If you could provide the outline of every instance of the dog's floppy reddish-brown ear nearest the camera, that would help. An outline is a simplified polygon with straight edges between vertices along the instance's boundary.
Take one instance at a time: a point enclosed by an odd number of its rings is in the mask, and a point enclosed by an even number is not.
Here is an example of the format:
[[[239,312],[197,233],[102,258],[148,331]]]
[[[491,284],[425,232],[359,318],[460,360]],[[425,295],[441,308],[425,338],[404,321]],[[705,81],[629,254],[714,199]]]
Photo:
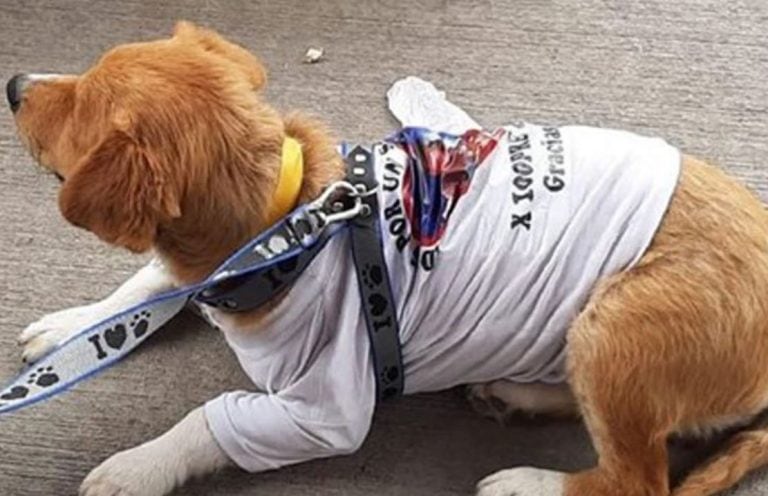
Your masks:
[[[59,194],[72,224],[101,239],[143,252],[158,225],[181,215],[168,164],[124,131],[112,131],[80,162]]]

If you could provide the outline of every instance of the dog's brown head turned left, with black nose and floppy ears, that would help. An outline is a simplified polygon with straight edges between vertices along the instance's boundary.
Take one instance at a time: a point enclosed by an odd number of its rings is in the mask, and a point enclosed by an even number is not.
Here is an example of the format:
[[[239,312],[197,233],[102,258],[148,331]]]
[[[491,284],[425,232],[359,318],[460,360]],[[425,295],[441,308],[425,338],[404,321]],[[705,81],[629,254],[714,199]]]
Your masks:
[[[253,163],[244,154],[279,152],[282,122],[258,96],[265,81],[246,50],[180,22],[171,38],[116,47],[81,75],[15,76],[7,93],[22,140],[62,181],[64,217],[144,251],[163,226],[214,208],[202,195],[252,186],[227,169]]]

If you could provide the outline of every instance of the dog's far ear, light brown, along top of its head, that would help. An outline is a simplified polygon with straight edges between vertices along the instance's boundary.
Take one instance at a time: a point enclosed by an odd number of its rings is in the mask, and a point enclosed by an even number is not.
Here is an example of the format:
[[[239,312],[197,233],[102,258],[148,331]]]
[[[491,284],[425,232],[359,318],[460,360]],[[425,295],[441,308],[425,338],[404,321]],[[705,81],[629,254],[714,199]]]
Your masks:
[[[201,28],[189,21],[179,21],[173,30],[175,38],[192,41],[204,50],[221,55],[245,71],[254,89],[267,84],[267,71],[261,61],[245,48],[225,40],[210,29]]]

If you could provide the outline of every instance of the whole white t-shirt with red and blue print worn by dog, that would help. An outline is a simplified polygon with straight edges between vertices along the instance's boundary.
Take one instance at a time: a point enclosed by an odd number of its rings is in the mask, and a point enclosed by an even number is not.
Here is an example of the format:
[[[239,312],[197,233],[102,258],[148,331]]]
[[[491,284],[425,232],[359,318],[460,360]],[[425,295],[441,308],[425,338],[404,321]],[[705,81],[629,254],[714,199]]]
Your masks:
[[[679,152],[588,127],[455,138],[406,129],[376,146],[384,252],[406,393],[565,379],[566,331],[602,277],[636,263],[675,189]],[[354,451],[376,382],[349,239],[335,237],[258,329],[224,329],[257,392],[206,405],[249,471]]]

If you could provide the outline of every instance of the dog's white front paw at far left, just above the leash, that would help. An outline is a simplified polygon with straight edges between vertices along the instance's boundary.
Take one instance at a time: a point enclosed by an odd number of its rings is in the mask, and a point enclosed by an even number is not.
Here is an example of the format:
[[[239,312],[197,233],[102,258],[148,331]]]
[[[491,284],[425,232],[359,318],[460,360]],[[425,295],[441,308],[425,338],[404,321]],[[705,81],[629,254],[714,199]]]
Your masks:
[[[44,316],[21,331],[19,345],[24,347],[22,360],[27,363],[36,361],[59,343],[102,318],[104,316],[99,313],[96,304],[68,308]]]

